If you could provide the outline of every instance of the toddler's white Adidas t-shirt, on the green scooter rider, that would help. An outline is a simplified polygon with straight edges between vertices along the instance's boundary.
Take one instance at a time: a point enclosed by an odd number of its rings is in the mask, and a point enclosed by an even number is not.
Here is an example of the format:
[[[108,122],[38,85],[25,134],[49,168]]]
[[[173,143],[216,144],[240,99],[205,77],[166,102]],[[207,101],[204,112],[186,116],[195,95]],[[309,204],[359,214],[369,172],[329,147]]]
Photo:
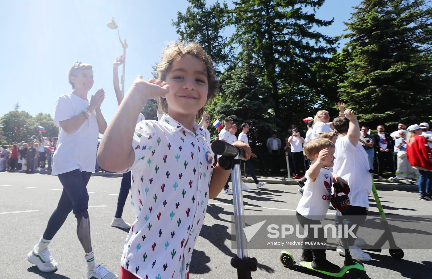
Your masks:
[[[315,182],[309,179],[309,170],[305,174],[303,196],[297,205],[297,212],[312,220],[324,220],[330,205],[333,174],[327,168],[321,168]]]

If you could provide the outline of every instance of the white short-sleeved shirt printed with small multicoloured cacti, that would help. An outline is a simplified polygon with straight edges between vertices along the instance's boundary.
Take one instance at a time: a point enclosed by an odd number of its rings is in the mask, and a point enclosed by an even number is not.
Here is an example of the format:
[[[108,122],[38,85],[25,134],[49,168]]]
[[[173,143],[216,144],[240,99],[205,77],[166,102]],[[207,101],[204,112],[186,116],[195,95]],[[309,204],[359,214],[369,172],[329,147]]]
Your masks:
[[[214,154],[205,130],[168,114],[137,124],[131,205],[137,219],[121,266],[141,279],[184,279],[206,214]]]

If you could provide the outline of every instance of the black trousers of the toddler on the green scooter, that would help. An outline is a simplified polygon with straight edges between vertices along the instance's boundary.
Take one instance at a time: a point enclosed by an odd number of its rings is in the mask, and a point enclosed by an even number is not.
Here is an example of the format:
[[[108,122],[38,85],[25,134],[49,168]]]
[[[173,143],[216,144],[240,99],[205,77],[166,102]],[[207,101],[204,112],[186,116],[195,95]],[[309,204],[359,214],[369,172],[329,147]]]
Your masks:
[[[300,225],[303,229],[305,226],[308,227],[308,235],[303,239],[303,250],[312,250],[312,255],[314,260],[324,260],[325,259],[325,244],[327,242],[327,238],[324,237],[324,229],[321,228],[311,228],[310,225],[321,225],[321,221],[308,219],[302,216],[299,212],[295,212],[295,216],[299,221]],[[317,238],[314,238],[314,230],[317,230]],[[305,244],[308,241],[321,242],[321,244],[309,245]]]

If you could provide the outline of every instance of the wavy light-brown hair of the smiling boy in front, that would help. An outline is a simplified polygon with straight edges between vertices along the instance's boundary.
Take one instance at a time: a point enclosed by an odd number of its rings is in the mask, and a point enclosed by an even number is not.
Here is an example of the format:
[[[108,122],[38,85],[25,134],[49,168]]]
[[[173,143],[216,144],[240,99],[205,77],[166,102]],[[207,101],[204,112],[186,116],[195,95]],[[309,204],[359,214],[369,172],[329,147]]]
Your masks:
[[[206,66],[207,80],[209,84],[209,91],[207,92],[207,101],[216,95],[219,88],[219,81],[216,79],[215,67],[212,58],[206,54],[206,51],[201,47],[200,44],[191,43],[186,41],[173,41],[165,48],[161,55],[161,61],[157,65],[156,69],[159,72],[159,79],[161,81],[166,80],[166,76],[171,70],[172,61],[181,58],[185,55],[193,55],[198,59],[202,60]],[[166,98],[159,97],[158,104],[162,110],[168,112],[168,104]],[[196,119],[200,119],[203,116],[204,108],[200,108],[197,112]]]

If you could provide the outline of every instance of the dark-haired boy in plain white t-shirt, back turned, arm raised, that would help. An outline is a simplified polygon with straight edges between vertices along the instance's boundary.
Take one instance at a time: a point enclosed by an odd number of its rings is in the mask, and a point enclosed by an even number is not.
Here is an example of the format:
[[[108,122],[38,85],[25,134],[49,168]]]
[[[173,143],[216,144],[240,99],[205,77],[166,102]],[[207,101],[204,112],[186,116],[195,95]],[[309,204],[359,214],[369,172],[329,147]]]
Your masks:
[[[368,156],[360,144],[359,121],[352,109],[345,111],[345,116],[336,117],[333,120],[335,129],[339,132],[336,140],[336,152],[334,156],[333,173],[348,181],[349,201],[351,206],[343,213],[345,221],[349,224],[356,224],[352,230],[357,233],[359,225],[365,222],[369,207],[369,194],[372,191],[372,177],[369,173]],[[338,218],[335,219],[338,225]],[[345,255],[343,243],[337,240],[337,253]],[[348,235],[348,247],[351,256],[361,261],[371,260],[371,257],[364,253],[357,245],[365,245],[362,238],[354,238]]]

